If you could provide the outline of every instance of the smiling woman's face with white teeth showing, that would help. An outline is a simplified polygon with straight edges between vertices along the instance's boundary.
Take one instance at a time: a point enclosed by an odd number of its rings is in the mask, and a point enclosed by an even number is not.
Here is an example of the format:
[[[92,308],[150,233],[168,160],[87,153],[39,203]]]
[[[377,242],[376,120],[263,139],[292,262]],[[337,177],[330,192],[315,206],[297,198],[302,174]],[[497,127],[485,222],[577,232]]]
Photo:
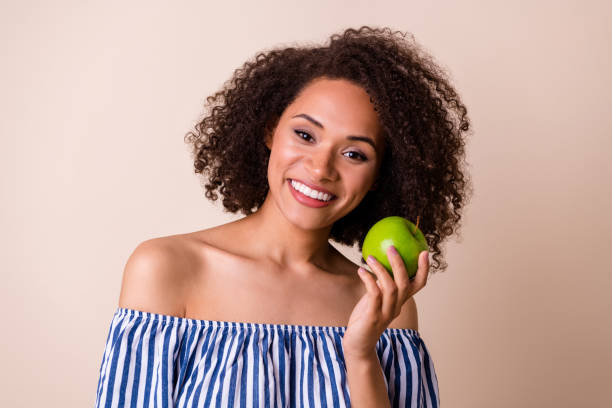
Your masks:
[[[305,87],[266,139],[269,194],[281,213],[318,229],[351,212],[376,181],[384,150],[379,133],[363,88],[341,79]]]

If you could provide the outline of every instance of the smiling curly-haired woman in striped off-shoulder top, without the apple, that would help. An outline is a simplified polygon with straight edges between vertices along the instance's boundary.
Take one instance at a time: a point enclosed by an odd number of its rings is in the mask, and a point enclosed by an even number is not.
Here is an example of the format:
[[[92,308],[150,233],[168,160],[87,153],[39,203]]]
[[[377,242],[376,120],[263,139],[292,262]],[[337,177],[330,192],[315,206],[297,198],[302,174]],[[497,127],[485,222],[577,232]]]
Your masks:
[[[466,109],[405,35],[362,27],[260,53],[186,136],[206,196],[245,217],[147,240],[127,261],[96,406],[437,407],[409,279],[359,249],[416,220],[434,269],[461,216]],[[399,33],[401,34],[401,33]],[[452,205],[451,205],[452,204]]]

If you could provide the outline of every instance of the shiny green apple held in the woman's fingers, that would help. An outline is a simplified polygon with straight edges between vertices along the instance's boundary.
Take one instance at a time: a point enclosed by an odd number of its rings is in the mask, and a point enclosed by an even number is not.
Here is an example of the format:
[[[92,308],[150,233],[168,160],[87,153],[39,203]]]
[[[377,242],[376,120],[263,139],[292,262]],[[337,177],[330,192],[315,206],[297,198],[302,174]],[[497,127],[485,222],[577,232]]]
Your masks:
[[[418,225],[418,220],[417,220]],[[362,256],[372,255],[393,276],[391,263],[387,259],[387,248],[393,245],[401,255],[410,278],[416,275],[419,254],[429,251],[427,240],[421,230],[403,217],[385,217],[370,228],[363,240]]]

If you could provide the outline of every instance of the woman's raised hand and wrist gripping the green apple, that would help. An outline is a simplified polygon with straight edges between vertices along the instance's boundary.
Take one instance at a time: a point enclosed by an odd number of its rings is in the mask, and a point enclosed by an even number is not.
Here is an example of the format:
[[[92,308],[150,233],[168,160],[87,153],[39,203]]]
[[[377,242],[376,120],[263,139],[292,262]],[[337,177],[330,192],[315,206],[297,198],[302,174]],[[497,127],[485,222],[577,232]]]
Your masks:
[[[364,268],[358,270],[367,292],[355,305],[344,332],[342,346],[345,355],[357,358],[371,356],[380,336],[393,319],[399,316],[404,303],[427,283],[428,251],[421,251],[419,254],[417,273],[412,279],[408,278],[404,261],[393,246],[387,249],[387,257],[393,277],[372,256],[366,262],[378,280]]]

